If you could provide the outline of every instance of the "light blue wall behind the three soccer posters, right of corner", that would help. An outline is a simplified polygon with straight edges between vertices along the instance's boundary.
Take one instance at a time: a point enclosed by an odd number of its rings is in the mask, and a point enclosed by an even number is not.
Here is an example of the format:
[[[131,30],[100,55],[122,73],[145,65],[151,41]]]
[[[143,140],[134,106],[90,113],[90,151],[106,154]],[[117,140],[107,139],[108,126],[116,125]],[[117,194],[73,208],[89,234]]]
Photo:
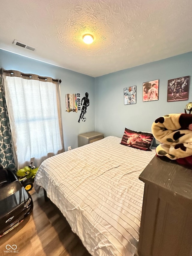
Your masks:
[[[192,52],[95,78],[95,131],[122,137],[125,127],[151,131],[156,118],[184,113],[192,101],[192,81],[187,101],[167,102],[167,81],[192,75]],[[159,100],[143,102],[143,83],[159,79]],[[137,103],[124,105],[124,88],[137,86]]]

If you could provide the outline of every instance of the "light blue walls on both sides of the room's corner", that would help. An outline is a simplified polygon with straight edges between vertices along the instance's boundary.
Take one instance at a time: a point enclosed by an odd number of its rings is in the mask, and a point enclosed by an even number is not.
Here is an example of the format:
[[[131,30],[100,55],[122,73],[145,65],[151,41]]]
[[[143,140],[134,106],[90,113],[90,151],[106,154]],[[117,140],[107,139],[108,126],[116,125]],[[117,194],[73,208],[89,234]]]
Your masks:
[[[60,90],[65,150],[68,146],[76,148],[78,134],[88,131],[102,132],[105,137],[122,137],[125,127],[151,131],[156,118],[168,113],[183,113],[185,105],[192,101],[190,82],[187,101],[167,102],[167,81],[192,75],[192,52],[97,78],[3,50],[0,50],[0,67],[62,80]],[[159,79],[159,100],[143,102],[143,83],[156,79]],[[134,85],[137,86],[137,103],[124,105],[124,88]],[[65,94],[80,93],[82,98],[86,91],[90,99],[87,119],[78,123],[80,111],[65,112]]]

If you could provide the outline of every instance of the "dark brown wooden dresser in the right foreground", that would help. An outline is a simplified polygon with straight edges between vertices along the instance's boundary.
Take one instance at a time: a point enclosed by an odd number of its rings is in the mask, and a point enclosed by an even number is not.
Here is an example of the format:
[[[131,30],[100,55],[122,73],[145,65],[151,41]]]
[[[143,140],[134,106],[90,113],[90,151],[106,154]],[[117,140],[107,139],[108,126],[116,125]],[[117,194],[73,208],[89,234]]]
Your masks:
[[[139,179],[139,256],[192,256],[192,170],[155,156]]]

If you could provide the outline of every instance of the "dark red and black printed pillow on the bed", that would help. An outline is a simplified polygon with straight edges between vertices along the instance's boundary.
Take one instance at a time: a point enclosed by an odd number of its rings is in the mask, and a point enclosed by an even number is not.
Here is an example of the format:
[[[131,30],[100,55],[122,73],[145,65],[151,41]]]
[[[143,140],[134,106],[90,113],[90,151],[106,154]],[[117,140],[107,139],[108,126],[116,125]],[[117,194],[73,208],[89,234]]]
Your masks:
[[[141,149],[145,151],[152,151],[151,146],[153,143],[153,134],[142,131],[131,131],[125,128],[121,143],[122,145]]]

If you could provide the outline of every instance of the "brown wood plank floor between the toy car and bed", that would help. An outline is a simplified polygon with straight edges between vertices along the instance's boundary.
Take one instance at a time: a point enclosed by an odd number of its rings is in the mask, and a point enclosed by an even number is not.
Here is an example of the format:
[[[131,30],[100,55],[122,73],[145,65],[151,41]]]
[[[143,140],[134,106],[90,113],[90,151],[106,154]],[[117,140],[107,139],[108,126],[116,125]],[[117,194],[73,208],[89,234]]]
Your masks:
[[[0,255],[91,256],[59,209],[50,200],[45,202],[43,189],[39,194],[32,189],[30,194],[32,215],[0,238]],[[7,244],[16,245],[19,252],[4,252]]]

